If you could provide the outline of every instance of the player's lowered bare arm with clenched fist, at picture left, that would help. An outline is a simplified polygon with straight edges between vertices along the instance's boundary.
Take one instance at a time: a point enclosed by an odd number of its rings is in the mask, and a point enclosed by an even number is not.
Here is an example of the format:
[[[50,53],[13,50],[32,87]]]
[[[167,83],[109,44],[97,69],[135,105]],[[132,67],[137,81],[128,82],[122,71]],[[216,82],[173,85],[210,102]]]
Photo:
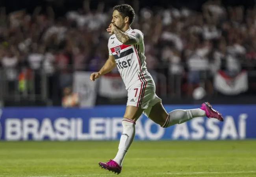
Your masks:
[[[109,55],[108,60],[99,70],[99,72],[94,72],[93,74],[91,74],[91,77],[90,77],[91,81],[95,81],[95,79],[110,72],[115,68],[116,65],[117,64],[115,63],[115,57],[113,55]]]

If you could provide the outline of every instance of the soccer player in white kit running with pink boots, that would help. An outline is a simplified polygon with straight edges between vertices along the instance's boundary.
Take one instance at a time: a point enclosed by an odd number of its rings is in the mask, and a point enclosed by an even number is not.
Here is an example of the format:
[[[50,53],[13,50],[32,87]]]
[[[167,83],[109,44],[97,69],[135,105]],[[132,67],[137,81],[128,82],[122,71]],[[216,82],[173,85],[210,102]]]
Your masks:
[[[130,28],[134,17],[134,9],[128,4],[113,8],[113,19],[107,29],[111,34],[108,41],[109,58],[99,72],[90,76],[95,81],[117,66],[128,91],[117,155],[106,163],[99,162],[100,167],[117,174],[121,173],[124,156],[134,140],[135,122],[142,113],[163,128],[203,116],[223,121],[223,116],[212,109],[209,103],[202,103],[198,109],[178,109],[169,113],[164,109],[161,99],[155,93],[152,76],[147,71],[143,33]]]

